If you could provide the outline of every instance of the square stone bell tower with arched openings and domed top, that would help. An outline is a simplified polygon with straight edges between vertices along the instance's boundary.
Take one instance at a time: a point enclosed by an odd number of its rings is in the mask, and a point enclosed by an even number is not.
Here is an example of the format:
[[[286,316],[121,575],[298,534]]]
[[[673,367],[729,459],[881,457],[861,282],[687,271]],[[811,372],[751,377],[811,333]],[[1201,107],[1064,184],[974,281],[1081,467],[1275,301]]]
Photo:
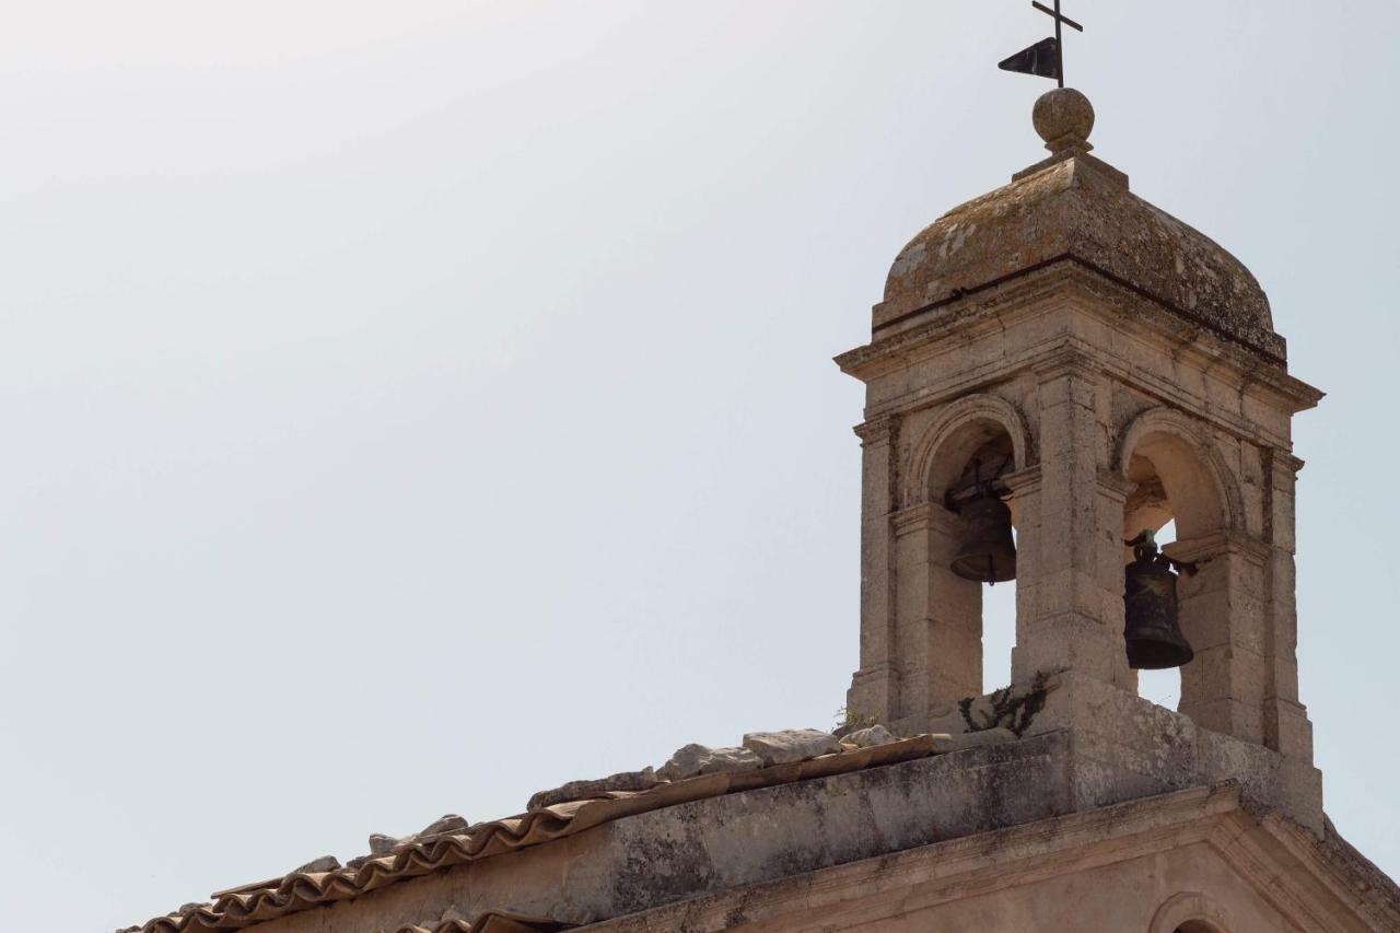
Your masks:
[[[837,357],[867,388],[847,707],[956,728],[1001,686],[981,682],[983,580],[1014,573],[1012,689],[1047,691],[1028,731],[1074,733],[1086,804],[1236,779],[1320,829],[1291,419],[1322,394],[1289,375],[1254,276],[1092,156],[1093,120],[1078,91],[1042,97],[1049,157],[914,237],[871,342]],[[1189,650],[1134,657],[1190,657],[1176,710],[1137,696],[1124,637],[1127,542],[1141,556],[1168,523],[1158,586]]]

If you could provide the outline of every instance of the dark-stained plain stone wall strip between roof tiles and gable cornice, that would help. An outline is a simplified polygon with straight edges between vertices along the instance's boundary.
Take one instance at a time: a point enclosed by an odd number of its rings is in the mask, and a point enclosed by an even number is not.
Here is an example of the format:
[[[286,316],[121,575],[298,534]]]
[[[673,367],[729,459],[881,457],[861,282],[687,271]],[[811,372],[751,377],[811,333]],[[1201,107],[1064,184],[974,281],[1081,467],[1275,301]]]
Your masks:
[[[381,933],[447,908],[476,918],[503,905],[573,923],[620,918],[1070,813],[1067,751],[1065,737],[1043,735],[707,797],[259,926],[266,933]]]

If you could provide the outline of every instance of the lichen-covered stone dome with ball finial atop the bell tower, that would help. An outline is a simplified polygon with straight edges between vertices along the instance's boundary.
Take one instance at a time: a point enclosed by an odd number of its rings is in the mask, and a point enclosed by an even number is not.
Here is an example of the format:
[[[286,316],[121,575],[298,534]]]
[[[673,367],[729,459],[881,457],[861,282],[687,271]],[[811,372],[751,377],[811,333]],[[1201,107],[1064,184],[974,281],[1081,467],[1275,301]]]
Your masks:
[[[1093,111],[1082,94],[1051,91],[1037,102],[1035,120],[1053,156],[914,237],[889,270],[876,331],[966,291],[1068,261],[1282,357],[1268,298],[1249,269],[1210,237],[1133,195],[1126,175],[1088,154]]]

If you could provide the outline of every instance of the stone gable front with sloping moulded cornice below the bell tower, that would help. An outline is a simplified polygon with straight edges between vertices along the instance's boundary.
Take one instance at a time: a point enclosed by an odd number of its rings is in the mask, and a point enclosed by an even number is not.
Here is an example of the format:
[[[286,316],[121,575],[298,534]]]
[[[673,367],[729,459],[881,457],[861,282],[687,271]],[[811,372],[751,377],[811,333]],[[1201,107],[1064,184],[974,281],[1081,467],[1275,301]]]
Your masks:
[[[1331,885],[1316,884],[1327,876]],[[1284,878],[1287,899],[1270,891]],[[1235,789],[1201,787],[717,890],[589,930],[1378,933],[1400,929],[1394,891],[1373,869],[1259,821]]]

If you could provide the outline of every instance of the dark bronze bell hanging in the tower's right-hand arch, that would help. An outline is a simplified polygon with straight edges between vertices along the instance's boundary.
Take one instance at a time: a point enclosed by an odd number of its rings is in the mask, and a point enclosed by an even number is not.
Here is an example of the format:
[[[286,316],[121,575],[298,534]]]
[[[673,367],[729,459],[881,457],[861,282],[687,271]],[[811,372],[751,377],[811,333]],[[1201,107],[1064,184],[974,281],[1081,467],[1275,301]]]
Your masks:
[[[1134,558],[1124,573],[1123,591],[1128,667],[1156,671],[1189,664],[1196,653],[1177,625],[1172,559],[1156,552],[1149,532],[1128,544]]]

